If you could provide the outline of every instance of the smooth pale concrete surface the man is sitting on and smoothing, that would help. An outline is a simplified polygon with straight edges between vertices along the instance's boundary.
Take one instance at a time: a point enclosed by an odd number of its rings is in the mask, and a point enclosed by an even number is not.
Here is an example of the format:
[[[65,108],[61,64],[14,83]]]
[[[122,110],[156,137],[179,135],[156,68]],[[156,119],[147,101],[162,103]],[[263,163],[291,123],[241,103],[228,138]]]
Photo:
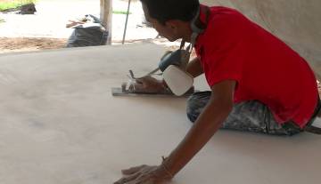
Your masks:
[[[128,69],[144,74],[153,44],[0,55],[0,183],[111,184],[160,164],[191,127],[185,99],[114,98]],[[177,184],[319,184],[321,136],[219,131]]]

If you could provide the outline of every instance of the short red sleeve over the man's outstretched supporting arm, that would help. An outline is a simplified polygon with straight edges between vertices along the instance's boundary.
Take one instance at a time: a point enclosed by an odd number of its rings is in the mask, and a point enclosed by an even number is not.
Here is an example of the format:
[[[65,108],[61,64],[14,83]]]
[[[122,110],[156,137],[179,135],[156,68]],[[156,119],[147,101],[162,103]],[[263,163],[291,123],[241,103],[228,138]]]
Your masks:
[[[242,20],[238,14],[224,14],[210,21],[204,35],[206,42],[201,57],[210,86],[224,80],[240,83],[245,53],[243,48],[246,48]]]

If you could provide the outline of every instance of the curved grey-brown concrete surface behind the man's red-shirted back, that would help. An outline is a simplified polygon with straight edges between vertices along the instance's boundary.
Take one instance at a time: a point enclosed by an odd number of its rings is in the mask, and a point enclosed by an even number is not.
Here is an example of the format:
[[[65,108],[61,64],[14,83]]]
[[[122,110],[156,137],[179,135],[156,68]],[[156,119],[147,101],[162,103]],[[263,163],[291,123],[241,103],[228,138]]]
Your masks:
[[[201,0],[238,9],[300,52],[321,75],[320,0]]]

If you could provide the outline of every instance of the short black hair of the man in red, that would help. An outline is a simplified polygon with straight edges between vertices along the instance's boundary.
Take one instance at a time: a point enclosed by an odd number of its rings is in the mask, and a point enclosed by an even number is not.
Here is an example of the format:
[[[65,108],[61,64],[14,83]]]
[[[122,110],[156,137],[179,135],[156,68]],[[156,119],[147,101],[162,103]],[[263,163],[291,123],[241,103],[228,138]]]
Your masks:
[[[165,24],[168,20],[193,20],[199,0],[140,0],[147,8],[149,16]]]

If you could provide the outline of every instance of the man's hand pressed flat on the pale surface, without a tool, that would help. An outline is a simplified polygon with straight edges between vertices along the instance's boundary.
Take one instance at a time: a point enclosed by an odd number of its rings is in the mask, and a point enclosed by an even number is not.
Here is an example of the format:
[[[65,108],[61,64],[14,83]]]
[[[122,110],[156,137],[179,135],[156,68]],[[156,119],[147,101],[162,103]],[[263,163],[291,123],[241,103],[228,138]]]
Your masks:
[[[121,172],[124,177],[114,184],[165,184],[171,180],[161,166],[141,165]]]

